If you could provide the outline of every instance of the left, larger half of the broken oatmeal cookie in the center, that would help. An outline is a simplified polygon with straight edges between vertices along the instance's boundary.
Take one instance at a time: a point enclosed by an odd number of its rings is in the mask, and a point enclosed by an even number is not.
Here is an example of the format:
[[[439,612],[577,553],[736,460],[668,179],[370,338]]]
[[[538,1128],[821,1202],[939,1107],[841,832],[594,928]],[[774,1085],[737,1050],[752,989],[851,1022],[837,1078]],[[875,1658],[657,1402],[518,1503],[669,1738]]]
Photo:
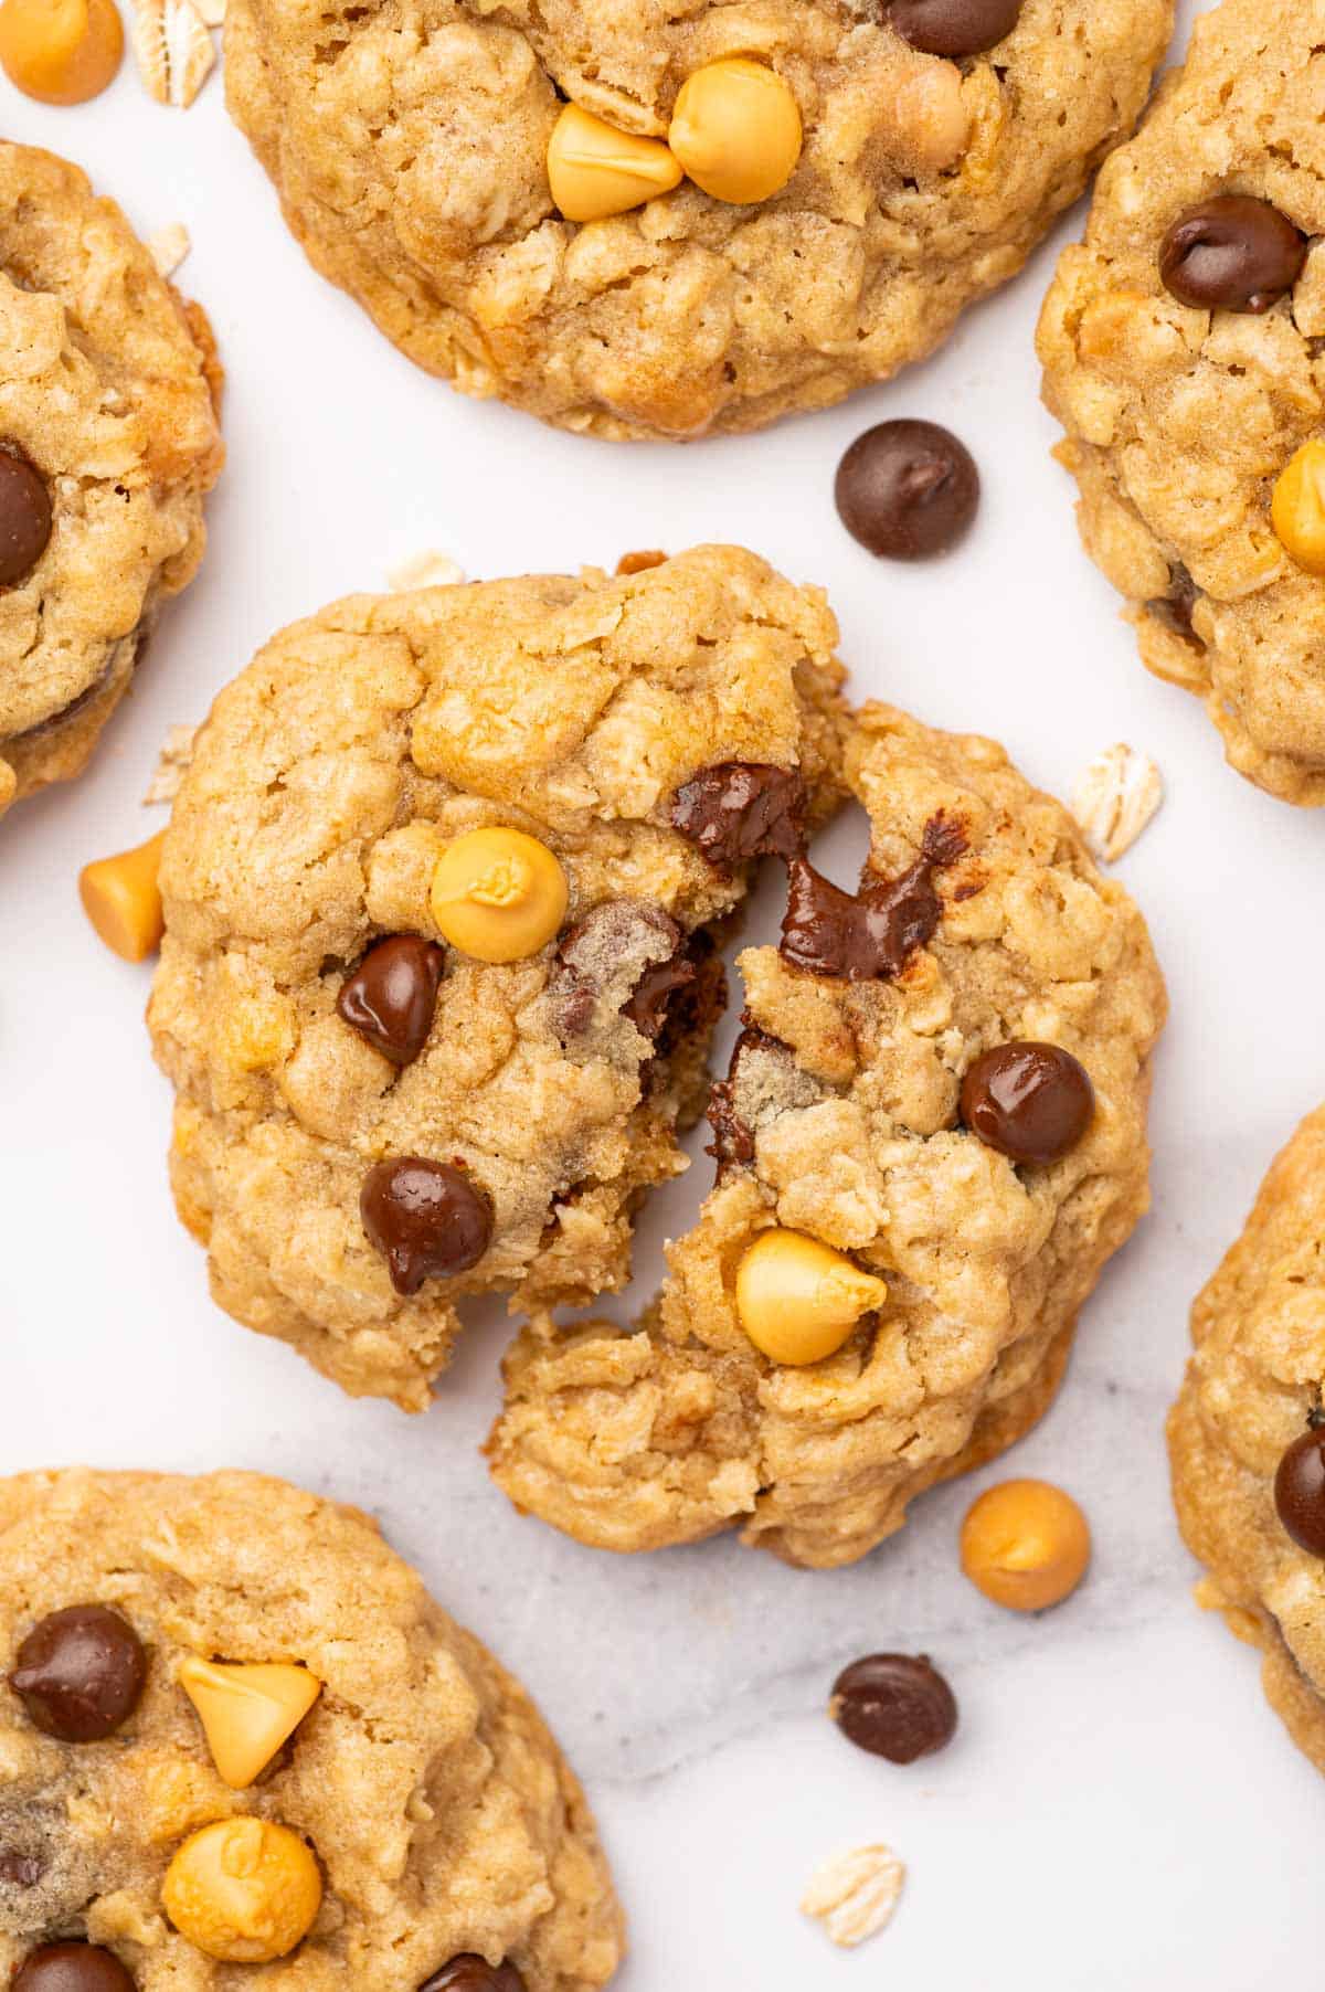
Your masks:
[[[835,641],[819,592],[699,548],[357,596],[221,693],[149,1006],[221,1307],[418,1410],[460,1295],[626,1279],[703,1106],[715,932],[835,799]]]

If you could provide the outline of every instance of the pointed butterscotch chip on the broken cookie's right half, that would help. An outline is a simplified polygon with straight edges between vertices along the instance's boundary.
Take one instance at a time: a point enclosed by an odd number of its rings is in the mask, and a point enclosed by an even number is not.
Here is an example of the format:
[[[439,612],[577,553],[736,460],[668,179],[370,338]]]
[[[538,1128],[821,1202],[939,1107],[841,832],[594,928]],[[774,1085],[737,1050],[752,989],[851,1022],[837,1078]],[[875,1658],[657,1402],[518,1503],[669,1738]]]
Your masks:
[[[861,1315],[881,1307],[887,1283],[803,1231],[761,1231],[735,1275],[741,1327],[773,1363],[821,1363]]]

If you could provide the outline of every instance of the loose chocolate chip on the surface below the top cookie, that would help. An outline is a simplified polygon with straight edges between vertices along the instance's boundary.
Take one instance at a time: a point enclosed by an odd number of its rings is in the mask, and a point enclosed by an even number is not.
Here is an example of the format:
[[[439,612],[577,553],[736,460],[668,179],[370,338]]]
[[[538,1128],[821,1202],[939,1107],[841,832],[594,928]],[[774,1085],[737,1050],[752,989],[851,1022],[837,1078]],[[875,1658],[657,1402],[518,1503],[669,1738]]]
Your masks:
[[[950,552],[980,502],[980,472],[938,422],[879,422],[837,466],[837,512],[853,540],[889,560]]]

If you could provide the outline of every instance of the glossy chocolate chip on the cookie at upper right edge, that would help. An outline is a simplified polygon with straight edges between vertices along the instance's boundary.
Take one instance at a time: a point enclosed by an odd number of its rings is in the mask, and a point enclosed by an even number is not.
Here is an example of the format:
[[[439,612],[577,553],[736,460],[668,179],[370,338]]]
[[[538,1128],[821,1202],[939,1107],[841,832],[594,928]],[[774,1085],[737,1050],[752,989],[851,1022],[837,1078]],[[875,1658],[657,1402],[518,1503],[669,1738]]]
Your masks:
[[[1160,277],[1197,311],[1269,311],[1291,291],[1307,237],[1269,201],[1215,193],[1180,215],[1160,243]]]

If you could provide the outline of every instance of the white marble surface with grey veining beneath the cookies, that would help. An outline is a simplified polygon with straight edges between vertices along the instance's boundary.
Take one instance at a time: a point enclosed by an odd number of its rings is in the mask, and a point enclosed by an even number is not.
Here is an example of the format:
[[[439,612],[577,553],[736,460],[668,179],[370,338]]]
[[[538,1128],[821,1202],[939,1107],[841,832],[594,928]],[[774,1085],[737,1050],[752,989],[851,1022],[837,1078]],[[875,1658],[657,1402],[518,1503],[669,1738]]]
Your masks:
[[[1319,1785],[1265,1711],[1253,1657],[1190,1602],[1162,1416],[1195,1287],[1325,1092],[1321,823],[1225,771],[1199,707],[1140,669],[1078,550],[1030,351],[1050,251],[934,363],[843,410],[687,450],[608,448],[470,404],[398,359],[305,267],[217,82],[177,114],[130,68],[78,112],[0,80],[0,129],[78,157],[143,231],[189,225],[181,281],[229,369],[231,450],[203,576],[96,767],[0,831],[4,1468],[247,1464],[373,1508],[534,1685],[586,1775],[634,1920],[626,1992],[1255,1992],[1315,1954]],[[841,450],[885,414],[946,420],[980,460],[978,530],[944,566],[879,566],[833,514]],[[281,622],[381,586],[422,546],[478,578],[703,538],[827,584],[859,693],[996,733],[1058,793],[1118,739],[1168,781],[1122,865],[1174,994],[1156,1211],[1010,1462],[1070,1486],[1096,1528],[1090,1582],[1038,1621],[998,1614],[956,1572],[972,1484],[831,1576],[729,1542],[618,1562],[520,1522],[474,1450],[496,1311],[428,1416],[351,1404],[209,1305],[169,1209],[147,972],[108,956],[76,900],[82,863],[157,825],[139,797],[165,729],[199,717]],[[835,835],[841,857],[853,833]],[[652,1209],[642,1287],[705,1181],[699,1161]],[[934,1653],[962,1703],[956,1745],[905,1773],[821,1713],[835,1667],[881,1645]],[[893,1928],[847,1958],[795,1902],[821,1855],[871,1839],[903,1853],[911,1884]]]

